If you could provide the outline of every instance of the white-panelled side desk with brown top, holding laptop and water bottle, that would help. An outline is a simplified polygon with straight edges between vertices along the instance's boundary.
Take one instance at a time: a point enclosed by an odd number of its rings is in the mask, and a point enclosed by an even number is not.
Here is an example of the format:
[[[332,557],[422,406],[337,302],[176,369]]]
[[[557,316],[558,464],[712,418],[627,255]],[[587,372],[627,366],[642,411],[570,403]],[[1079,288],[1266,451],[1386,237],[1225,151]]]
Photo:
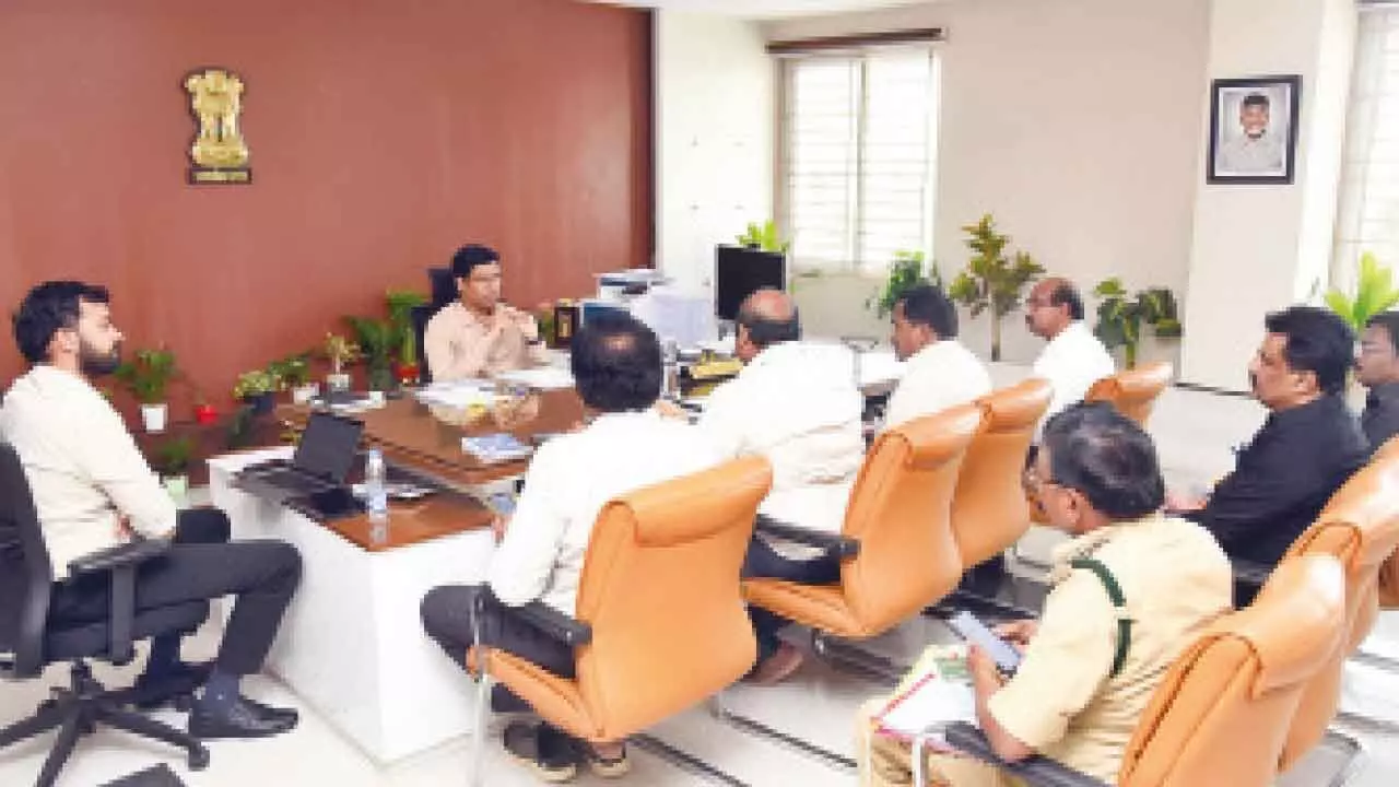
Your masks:
[[[362,515],[320,524],[234,486],[243,466],[290,455],[285,447],[208,461],[210,494],[234,538],[285,541],[302,556],[267,669],[379,763],[470,732],[470,682],[422,633],[418,605],[432,587],[485,578],[490,513],[448,494],[395,504],[389,542],[372,545]]]

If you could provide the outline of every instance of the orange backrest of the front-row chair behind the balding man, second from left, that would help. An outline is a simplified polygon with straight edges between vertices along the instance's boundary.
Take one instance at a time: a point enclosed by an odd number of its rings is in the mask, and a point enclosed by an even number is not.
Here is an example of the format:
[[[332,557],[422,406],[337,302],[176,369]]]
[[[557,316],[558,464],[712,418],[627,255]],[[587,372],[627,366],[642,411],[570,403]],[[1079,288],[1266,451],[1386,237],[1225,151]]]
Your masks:
[[[841,563],[841,585],[866,636],[939,601],[961,580],[951,501],[981,409],[961,405],[879,436],[851,490],[845,535],[859,555]]]

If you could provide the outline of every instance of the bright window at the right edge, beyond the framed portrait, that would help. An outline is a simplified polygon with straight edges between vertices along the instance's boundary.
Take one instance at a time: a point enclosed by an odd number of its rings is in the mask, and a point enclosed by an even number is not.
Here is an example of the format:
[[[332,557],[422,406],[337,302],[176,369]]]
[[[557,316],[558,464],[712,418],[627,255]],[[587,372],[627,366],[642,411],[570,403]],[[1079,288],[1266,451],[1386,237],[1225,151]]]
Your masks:
[[[1363,252],[1399,267],[1399,8],[1364,8],[1351,80],[1332,272],[1343,290]]]

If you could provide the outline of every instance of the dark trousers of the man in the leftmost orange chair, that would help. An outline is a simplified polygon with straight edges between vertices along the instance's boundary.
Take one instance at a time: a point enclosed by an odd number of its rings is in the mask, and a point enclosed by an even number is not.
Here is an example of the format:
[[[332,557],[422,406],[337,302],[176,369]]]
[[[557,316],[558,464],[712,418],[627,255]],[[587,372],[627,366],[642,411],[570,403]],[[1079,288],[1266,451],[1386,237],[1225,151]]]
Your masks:
[[[537,664],[560,678],[574,678],[572,646],[564,644],[525,620],[506,615],[506,609],[487,585],[442,585],[422,598],[422,629],[448,657],[466,668],[466,653],[474,641],[471,611],[480,605],[483,646],[504,650]],[[497,711],[522,711],[529,704],[505,686],[491,689],[491,707]]]

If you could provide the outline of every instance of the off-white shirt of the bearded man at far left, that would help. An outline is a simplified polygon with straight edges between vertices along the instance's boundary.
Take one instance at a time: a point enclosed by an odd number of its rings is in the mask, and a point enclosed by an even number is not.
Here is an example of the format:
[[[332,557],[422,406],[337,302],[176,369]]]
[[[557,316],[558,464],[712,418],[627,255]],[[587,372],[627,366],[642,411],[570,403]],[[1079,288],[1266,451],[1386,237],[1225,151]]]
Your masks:
[[[123,520],[151,538],[175,529],[175,501],[81,375],[39,364],[15,379],[0,405],[0,440],[24,464],[56,580],[70,560],[125,542]]]

